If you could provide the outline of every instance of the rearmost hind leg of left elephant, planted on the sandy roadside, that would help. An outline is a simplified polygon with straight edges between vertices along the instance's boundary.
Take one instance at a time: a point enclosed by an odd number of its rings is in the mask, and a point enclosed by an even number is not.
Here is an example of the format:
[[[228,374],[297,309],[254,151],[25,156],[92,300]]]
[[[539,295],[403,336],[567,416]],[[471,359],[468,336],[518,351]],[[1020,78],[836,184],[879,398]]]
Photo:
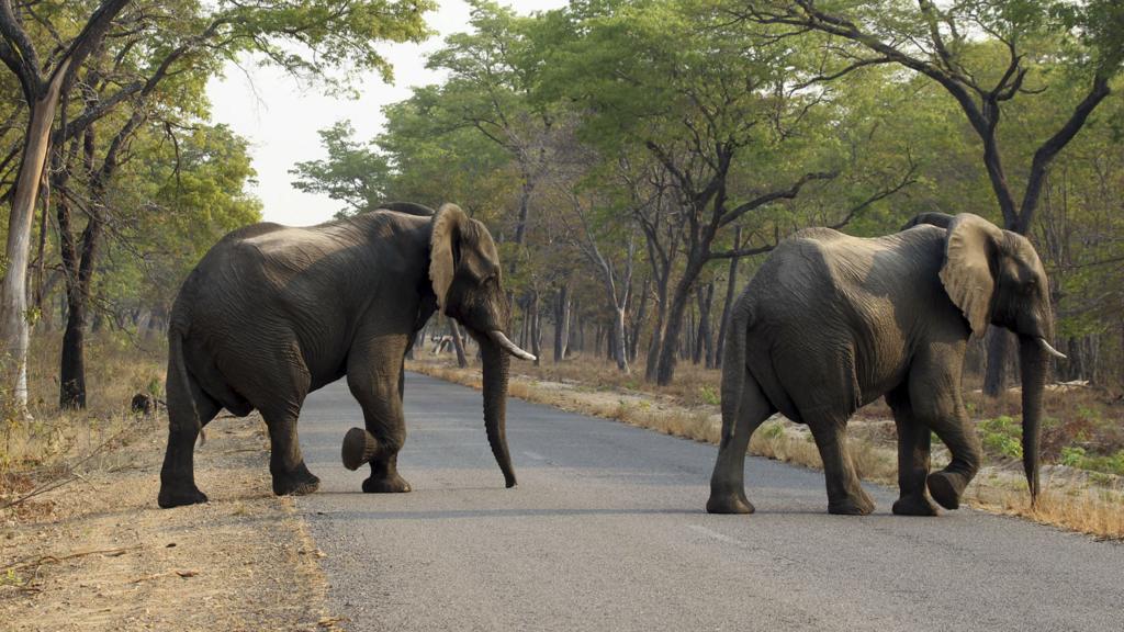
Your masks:
[[[196,487],[196,440],[202,426],[214,419],[220,408],[191,376],[185,380],[167,381],[167,450],[156,497],[161,507],[207,502],[207,495]]]

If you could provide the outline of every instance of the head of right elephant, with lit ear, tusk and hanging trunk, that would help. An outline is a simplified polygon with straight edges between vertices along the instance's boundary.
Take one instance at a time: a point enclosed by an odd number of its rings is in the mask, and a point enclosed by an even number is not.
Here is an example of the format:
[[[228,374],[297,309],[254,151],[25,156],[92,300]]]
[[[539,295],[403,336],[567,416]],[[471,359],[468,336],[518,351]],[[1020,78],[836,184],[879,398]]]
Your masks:
[[[975,334],[982,335],[991,324],[1018,335],[1023,468],[1031,496],[1036,497],[1046,362],[1050,355],[1064,358],[1050,345],[1054,332],[1045,270],[1031,242],[1017,233],[999,229],[967,213],[942,223],[948,236],[940,276],[949,298],[963,313]]]

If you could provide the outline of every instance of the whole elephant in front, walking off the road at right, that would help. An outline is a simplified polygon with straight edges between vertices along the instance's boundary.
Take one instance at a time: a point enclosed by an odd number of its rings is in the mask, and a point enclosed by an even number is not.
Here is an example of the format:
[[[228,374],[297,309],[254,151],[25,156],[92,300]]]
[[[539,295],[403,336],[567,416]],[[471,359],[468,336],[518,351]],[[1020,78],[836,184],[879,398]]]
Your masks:
[[[885,396],[898,434],[898,515],[948,509],[979,470],[961,373],[987,326],[1019,341],[1023,466],[1039,493],[1042,391],[1055,351],[1049,283],[1026,237],[972,215],[927,213],[901,232],[859,238],[808,228],[774,249],[732,312],[724,349],[722,436],[707,512],[747,514],[750,435],[773,413],[807,424],[824,463],[827,511],[864,515],[846,422]],[[952,460],[930,473],[931,431]],[[926,495],[926,487],[927,493]]]

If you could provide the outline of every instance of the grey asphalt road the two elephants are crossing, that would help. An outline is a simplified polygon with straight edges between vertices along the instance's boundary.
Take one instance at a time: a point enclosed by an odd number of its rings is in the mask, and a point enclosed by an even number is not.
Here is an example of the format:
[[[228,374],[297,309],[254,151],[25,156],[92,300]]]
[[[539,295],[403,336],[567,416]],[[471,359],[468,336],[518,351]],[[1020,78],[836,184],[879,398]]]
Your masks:
[[[339,460],[362,426],[344,382],[300,437],[320,491],[297,503],[348,630],[1124,630],[1124,545],[978,512],[832,516],[823,475],[749,459],[758,513],[703,508],[716,449],[511,399],[519,485],[480,394],[408,374],[414,486],[363,495]]]

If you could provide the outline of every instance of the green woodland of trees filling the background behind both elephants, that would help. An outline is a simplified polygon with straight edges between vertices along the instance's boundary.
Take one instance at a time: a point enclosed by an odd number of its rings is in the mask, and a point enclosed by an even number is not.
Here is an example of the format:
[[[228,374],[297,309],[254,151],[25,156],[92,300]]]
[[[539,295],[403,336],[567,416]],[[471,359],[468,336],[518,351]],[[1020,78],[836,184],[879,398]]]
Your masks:
[[[679,363],[720,363],[733,297],[792,232],[967,211],[1037,247],[1070,356],[1057,377],[1124,382],[1117,2],[471,4],[428,60],[447,79],[388,107],[375,138],[325,120],[293,186],[341,217],[454,201],[484,222],[540,362],[607,356],[668,385]],[[87,333],[161,338],[191,267],[260,218],[209,78],[239,61],[354,90],[389,73],[380,43],[426,37],[430,8],[0,0],[6,416],[85,406]],[[991,392],[1017,380],[1005,337],[969,362]],[[20,377],[36,344],[57,350],[57,391]]]

